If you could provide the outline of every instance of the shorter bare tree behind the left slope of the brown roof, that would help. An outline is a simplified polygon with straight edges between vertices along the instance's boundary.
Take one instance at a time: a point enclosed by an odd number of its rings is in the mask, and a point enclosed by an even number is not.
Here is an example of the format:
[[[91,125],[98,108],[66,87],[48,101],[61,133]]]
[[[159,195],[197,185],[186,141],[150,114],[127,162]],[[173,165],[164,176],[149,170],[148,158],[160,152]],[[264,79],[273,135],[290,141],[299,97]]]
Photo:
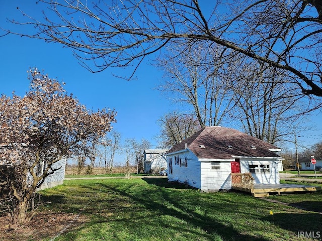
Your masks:
[[[158,119],[161,127],[160,145],[167,149],[189,138],[201,129],[193,114],[179,114],[174,111]]]

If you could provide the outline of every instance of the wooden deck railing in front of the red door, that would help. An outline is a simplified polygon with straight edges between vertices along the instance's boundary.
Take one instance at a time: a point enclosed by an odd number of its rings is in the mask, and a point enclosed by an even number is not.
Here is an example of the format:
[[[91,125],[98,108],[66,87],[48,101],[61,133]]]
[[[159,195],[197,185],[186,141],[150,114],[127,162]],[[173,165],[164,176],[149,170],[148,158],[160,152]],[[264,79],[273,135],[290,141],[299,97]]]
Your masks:
[[[254,177],[251,173],[231,173],[232,189],[254,193]]]

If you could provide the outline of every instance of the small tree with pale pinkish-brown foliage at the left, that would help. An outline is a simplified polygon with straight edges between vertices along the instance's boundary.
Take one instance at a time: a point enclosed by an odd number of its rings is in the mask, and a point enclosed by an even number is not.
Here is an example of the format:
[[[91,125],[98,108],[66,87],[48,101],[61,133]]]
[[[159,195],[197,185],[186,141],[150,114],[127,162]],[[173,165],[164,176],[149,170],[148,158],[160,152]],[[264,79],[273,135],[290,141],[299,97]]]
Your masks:
[[[54,164],[71,155],[90,153],[90,144],[115,122],[114,111],[89,111],[67,95],[57,80],[37,69],[29,73],[30,90],[24,97],[0,98],[0,164],[7,167],[0,176],[12,200],[12,219],[19,223],[31,219],[28,209],[36,189],[59,169]],[[39,167],[42,172],[37,172]]]

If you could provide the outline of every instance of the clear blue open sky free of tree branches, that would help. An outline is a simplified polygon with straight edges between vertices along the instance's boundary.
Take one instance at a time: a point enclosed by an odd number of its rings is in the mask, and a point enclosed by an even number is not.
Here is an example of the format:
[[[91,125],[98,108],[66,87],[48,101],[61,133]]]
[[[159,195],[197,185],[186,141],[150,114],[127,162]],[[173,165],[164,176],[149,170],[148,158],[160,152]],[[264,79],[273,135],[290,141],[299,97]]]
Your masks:
[[[15,28],[6,22],[6,18],[21,19],[18,6],[35,18],[41,17],[35,1],[5,0],[0,8],[0,27]],[[70,49],[59,44],[7,35],[0,38],[0,50],[0,93],[10,95],[15,90],[16,94],[24,95],[29,87],[27,70],[30,67],[43,69],[49,77],[65,82],[67,92],[73,93],[88,108],[115,109],[117,123],[113,126],[121,133],[123,141],[144,138],[156,147],[154,139],[159,134],[157,119],[176,108],[155,89],[162,72],[149,65],[140,66],[137,80],[126,81],[114,77],[113,73],[130,75],[129,69],[110,68],[90,73],[77,63]],[[322,139],[321,120],[321,112],[314,113],[311,119],[314,131],[302,133],[298,138],[299,144],[309,146]],[[124,161],[123,156],[117,158],[116,162]]]

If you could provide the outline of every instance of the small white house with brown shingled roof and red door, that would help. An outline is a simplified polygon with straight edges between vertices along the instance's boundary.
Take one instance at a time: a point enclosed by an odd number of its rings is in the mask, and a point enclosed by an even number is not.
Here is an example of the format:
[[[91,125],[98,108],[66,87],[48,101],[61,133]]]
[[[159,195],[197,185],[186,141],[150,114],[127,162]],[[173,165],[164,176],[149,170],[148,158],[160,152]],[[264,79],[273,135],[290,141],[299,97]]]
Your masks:
[[[231,189],[230,173],[279,184],[280,149],[224,127],[205,127],[167,152],[168,181],[211,192]]]

